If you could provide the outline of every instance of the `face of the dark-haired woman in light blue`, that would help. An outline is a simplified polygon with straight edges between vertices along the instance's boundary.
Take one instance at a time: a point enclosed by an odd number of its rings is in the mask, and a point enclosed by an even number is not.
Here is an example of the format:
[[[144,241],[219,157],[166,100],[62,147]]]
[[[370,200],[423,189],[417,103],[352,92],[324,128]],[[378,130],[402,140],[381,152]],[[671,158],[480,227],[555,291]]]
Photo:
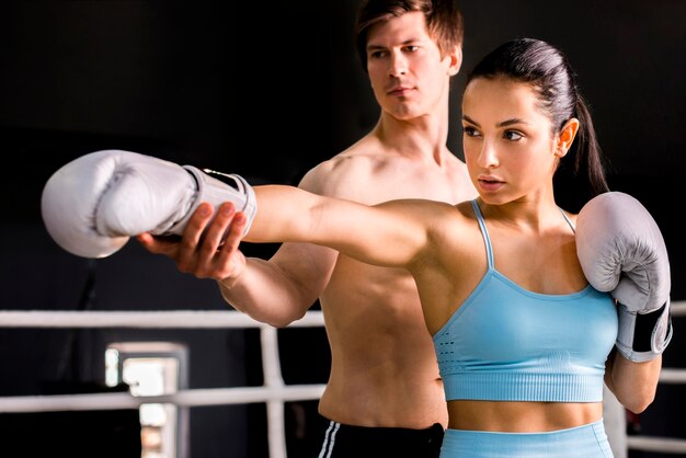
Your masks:
[[[558,136],[537,102],[530,84],[503,77],[477,78],[465,89],[465,162],[484,202],[504,204],[552,190]]]

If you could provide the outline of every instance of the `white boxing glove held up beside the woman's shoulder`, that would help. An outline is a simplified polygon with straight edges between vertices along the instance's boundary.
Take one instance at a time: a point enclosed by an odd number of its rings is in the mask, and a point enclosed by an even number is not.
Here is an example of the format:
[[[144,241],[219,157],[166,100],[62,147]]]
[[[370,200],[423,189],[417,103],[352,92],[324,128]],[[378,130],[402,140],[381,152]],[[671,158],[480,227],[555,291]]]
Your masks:
[[[658,224],[636,198],[608,192],[576,219],[576,254],[588,283],[617,299],[616,346],[628,359],[651,360],[672,339],[670,260]]]

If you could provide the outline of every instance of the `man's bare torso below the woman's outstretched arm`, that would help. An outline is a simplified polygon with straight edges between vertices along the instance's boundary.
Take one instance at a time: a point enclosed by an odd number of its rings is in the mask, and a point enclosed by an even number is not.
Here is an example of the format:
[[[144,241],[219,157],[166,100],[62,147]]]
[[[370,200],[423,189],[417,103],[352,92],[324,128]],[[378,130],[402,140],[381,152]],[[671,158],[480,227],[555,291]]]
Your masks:
[[[340,256],[320,301],[331,345],[322,415],[357,426],[447,425],[433,342],[407,272]]]

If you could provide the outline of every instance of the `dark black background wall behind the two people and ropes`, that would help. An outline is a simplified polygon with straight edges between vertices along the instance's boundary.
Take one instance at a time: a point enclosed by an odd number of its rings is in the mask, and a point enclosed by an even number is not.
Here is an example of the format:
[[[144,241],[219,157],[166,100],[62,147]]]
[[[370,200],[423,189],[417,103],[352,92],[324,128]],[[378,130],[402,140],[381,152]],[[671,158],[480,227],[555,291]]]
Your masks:
[[[99,261],[61,251],[41,220],[42,187],[64,163],[107,148],[238,172],[253,183],[295,184],[377,119],[352,45],[356,3],[3,2],[0,308],[226,309],[214,283],[178,273],[135,242]],[[517,36],[559,46],[591,102],[613,187],[640,198],[660,224],[672,298],[685,300],[686,248],[676,220],[686,198],[686,2],[580,0],[562,8],[482,0],[465,1],[462,11],[465,62],[453,90],[451,149],[461,157],[460,93],[481,56]],[[245,252],[267,256],[274,249],[247,245]],[[94,288],[84,300],[89,279]],[[675,320],[665,367],[686,366],[683,322]],[[325,382],[323,330],[279,334],[286,382]],[[252,331],[0,329],[0,396],[45,393],[57,382],[101,383],[104,346],[121,340],[186,343],[191,388],[262,383]],[[686,437],[674,410],[675,403],[683,409],[685,391],[661,387],[640,419],[643,432]],[[309,447],[308,436],[294,433],[291,416],[301,408],[310,419],[316,403],[288,405],[291,456]],[[192,456],[264,456],[263,419],[259,404],[193,409]]]

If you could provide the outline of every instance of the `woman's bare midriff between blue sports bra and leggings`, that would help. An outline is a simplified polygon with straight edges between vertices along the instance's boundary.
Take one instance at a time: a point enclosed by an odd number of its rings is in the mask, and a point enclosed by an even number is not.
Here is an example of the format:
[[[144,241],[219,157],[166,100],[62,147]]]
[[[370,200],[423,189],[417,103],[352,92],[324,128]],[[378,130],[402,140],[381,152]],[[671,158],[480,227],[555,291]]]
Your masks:
[[[602,402],[449,401],[451,430],[540,433],[565,430],[603,417]]]

